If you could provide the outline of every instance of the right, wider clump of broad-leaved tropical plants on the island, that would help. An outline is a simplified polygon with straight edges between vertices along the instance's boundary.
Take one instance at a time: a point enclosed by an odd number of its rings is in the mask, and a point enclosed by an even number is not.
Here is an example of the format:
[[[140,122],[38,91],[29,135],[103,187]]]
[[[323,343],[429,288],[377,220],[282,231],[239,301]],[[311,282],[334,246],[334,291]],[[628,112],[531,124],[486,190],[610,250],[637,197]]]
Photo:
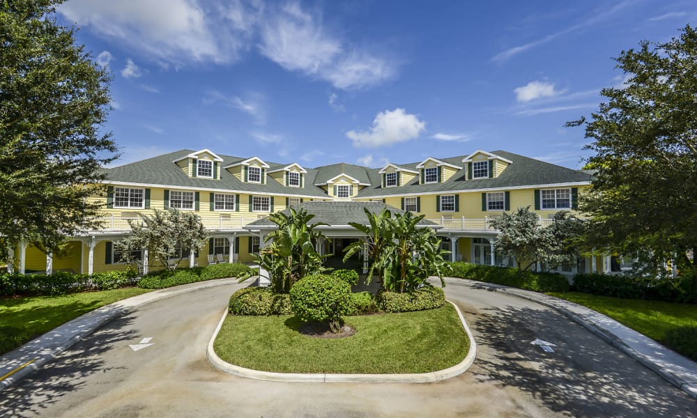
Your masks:
[[[366,281],[377,272],[385,291],[413,292],[430,276],[437,276],[445,286],[443,275],[449,265],[443,256],[450,252],[441,249],[441,239],[434,229],[418,225],[425,215],[414,216],[411,212],[393,215],[388,209],[375,214],[364,210],[368,225],[355,222],[349,225],[367,238],[353,242],[344,250],[344,262],[367,247],[370,262]]]

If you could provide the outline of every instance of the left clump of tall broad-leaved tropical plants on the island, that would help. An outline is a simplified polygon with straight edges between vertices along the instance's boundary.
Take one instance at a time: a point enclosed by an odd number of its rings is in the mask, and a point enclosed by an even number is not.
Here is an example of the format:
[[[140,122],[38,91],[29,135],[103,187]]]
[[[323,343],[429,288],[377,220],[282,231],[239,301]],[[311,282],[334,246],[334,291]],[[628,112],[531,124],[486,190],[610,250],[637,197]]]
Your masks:
[[[326,224],[310,224],[314,215],[304,208],[289,211],[289,215],[283,212],[269,215],[268,219],[278,229],[267,235],[272,242],[254,256],[259,266],[269,272],[275,293],[288,293],[302,277],[328,270],[324,267],[326,256],[319,255],[315,249],[315,243],[324,238],[317,227]]]

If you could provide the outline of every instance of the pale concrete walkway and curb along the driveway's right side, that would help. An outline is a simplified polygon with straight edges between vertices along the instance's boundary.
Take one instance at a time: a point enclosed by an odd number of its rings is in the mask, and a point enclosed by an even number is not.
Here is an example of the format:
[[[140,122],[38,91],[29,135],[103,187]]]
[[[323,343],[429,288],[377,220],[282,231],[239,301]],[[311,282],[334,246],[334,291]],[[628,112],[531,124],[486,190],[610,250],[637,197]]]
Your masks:
[[[680,370],[675,371],[675,369],[688,369],[691,368],[691,373],[697,376],[697,363],[692,362],[690,359],[687,359],[686,357],[683,357],[682,355],[675,353],[673,350],[670,350],[664,346],[661,346],[660,343],[657,343],[656,341],[650,339],[648,336],[645,336],[639,332],[636,332],[634,330],[631,330],[631,328],[626,327],[625,325],[622,325],[621,323],[618,323],[616,320],[613,320],[612,318],[609,318],[608,316],[605,316],[603,314],[600,314],[597,311],[594,311],[590,308],[584,307],[582,305],[576,304],[574,302],[569,302],[568,300],[562,300],[558,297],[554,297],[551,295],[544,295],[543,293],[535,293],[533,291],[523,291],[518,288],[512,288],[508,286],[503,286],[499,284],[491,284],[491,283],[486,283],[483,281],[473,281],[469,279],[459,279],[459,278],[452,278],[453,280],[457,281],[463,281],[466,284],[478,284],[478,285],[486,285],[490,287],[497,288],[500,290],[502,293],[505,293],[507,295],[512,295],[516,297],[520,297],[521,299],[525,300],[530,300],[531,302],[535,302],[538,304],[541,304],[545,307],[554,309],[555,311],[558,311],[560,314],[563,316],[566,316],[567,318],[573,320],[575,323],[578,323],[582,327],[584,327],[586,330],[589,330],[593,334],[596,334],[600,338],[604,339],[607,341],[611,346],[618,348],[618,350],[622,351],[622,353],[625,353],[632,359],[635,359],[637,362],[640,362],[644,366],[646,366],[648,369],[651,371],[654,371],[654,373],[657,373],[661,378],[664,378],[666,381],[670,382],[672,385],[677,387],[678,389],[682,390],[683,392],[689,394],[689,396],[696,398],[697,399],[697,380],[693,380],[686,376],[686,373],[680,373]],[[578,309],[579,311],[587,311],[589,316],[597,316],[601,321],[599,323],[596,323],[593,318],[585,318],[584,316],[581,316],[581,314],[576,313],[572,311],[571,309],[567,309],[563,305],[569,305],[569,307],[574,307],[575,309]],[[605,324],[602,325],[602,324]],[[621,330],[622,332],[631,332],[632,334],[636,334],[638,338],[635,340],[641,339],[643,341],[638,341],[638,343],[643,343],[645,346],[650,346],[652,350],[654,351],[663,351],[664,353],[661,353],[660,357],[662,359],[658,359],[655,357],[651,357],[649,355],[645,355],[643,353],[638,352],[638,350],[635,350],[634,348],[631,348],[629,346],[629,343],[625,341],[625,339],[622,339],[622,337],[618,336],[617,334],[613,333],[611,330],[611,327],[613,330]],[[666,355],[667,354],[667,355]],[[658,355],[656,357],[659,357]],[[682,365],[677,365],[677,364],[670,364],[669,361],[666,361],[666,357],[673,357],[673,359],[677,360],[678,362],[682,363]],[[659,364],[659,362],[663,362],[664,364]],[[688,369],[687,372],[689,373],[690,370]]]

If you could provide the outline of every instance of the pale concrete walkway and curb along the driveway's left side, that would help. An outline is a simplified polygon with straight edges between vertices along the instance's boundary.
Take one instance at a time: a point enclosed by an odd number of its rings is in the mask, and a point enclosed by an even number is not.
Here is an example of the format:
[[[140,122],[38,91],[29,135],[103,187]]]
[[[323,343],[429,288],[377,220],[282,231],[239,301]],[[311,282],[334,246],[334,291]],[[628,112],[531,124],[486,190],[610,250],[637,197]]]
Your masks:
[[[82,341],[100,327],[119,316],[129,314],[146,304],[169,299],[170,297],[175,297],[182,293],[226,286],[228,284],[237,284],[237,279],[234,277],[215,279],[160,289],[158,291],[119,300],[118,302],[108,304],[88,312],[87,314],[78,316],[56,327],[54,330],[36,337],[36,339],[29,341],[24,344],[24,346],[0,357],[0,376],[3,376],[0,380],[0,391],[33,373],[33,371],[40,369],[41,366],[51,362],[63,351],[74,346],[75,343]]]

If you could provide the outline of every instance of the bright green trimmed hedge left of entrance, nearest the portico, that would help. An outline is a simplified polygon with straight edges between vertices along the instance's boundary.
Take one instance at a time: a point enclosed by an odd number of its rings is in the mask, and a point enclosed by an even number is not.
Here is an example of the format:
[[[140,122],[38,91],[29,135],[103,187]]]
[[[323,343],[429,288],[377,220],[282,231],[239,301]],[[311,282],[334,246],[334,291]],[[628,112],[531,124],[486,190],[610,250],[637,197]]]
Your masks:
[[[245,277],[253,273],[252,268],[241,263],[220,263],[206,265],[206,267],[181,268],[169,272],[163,270],[146,274],[139,282],[138,287],[144,289],[161,289],[181,284],[196,283],[212,279],[224,279],[225,277]]]

